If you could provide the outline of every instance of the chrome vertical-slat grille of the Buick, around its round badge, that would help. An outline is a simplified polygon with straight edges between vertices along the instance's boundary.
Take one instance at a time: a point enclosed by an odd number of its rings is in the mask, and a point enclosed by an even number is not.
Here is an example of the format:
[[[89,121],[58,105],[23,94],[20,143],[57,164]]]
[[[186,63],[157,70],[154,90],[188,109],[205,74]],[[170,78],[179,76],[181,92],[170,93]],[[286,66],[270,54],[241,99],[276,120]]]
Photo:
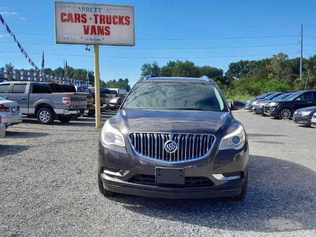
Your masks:
[[[215,142],[211,134],[131,132],[128,140],[134,152],[144,158],[162,162],[183,162],[206,157]],[[164,150],[165,142],[177,144],[174,153]]]

